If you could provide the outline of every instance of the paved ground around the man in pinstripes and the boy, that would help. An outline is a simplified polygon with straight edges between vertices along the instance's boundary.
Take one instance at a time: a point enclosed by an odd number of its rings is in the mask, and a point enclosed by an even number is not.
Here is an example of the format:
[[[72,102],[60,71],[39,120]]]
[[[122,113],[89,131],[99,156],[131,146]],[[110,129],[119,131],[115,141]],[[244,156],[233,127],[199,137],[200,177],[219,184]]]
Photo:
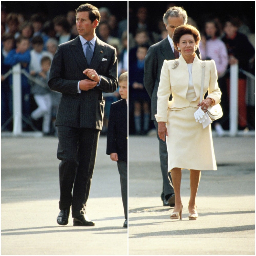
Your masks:
[[[2,137],[2,254],[127,255],[116,163],[100,138],[88,200],[94,227],[59,226],[57,138]]]

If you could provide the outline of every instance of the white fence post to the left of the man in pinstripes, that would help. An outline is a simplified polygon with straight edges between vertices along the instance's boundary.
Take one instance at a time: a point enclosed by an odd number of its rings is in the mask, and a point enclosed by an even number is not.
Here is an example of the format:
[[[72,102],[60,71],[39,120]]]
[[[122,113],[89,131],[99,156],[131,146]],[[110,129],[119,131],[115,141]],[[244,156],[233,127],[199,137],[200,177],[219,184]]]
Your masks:
[[[13,66],[13,135],[22,134],[21,66]]]

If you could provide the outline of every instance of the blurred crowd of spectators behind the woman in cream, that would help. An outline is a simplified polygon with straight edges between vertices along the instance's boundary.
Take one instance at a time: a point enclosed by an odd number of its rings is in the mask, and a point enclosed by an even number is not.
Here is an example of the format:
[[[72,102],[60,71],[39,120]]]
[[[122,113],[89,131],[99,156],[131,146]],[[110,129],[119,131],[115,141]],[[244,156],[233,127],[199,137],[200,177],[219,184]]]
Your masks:
[[[164,12],[168,9],[163,10]],[[188,24],[199,29],[201,42],[199,49],[202,60],[214,59],[218,71],[218,83],[222,91],[221,105],[224,115],[213,127],[219,136],[224,130],[229,129],[229,67],[238,62],[239,69],[254,74],[255,50],[254,34],[251,36],[250,28],[234,17],[220,20],[215,14],[202,15],[204,22],[200,27],[195,20],[188,17]],[[149,8],[141,6],[129,8],[129,134],[147,134],[154,129],[154,124],[149,121],[148,109],[150,99],[146,97],[143,85],[143,58],[141,49],[166,38],[167,31],[162,18],[152,21]],[[254,33],[254,31],[253,31]],[[250,40],[249,40],[250,39]],[[145,56],[144,56],[145,58]],[[248,83],[248,82],[247,82]],[[255,81],[252,81],[253,87]],[[239,98],[238,98],[238,129],[255,129],[254,102],[246,102],[247,88],[246,77],[239,73]],[[249,93],[249,92],[248,92]],[[146,120],[148,119],[148,122]]]

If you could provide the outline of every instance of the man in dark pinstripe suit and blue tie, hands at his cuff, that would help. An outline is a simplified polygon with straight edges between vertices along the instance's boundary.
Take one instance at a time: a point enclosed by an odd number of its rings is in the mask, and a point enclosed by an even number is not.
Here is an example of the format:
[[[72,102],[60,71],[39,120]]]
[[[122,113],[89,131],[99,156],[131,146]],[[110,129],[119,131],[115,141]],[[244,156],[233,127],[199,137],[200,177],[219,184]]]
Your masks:
[[[62,93],[56,118],[59,225],[68,224],[70,206],[74,226],[95,225],[86,216],[86,202],[103,124],[102,91],[114,92],[118,87],[116,50],[97,38],[99,22],[97,7],[79,6],[79,36],[58,46],[50,70],[49,87]]]

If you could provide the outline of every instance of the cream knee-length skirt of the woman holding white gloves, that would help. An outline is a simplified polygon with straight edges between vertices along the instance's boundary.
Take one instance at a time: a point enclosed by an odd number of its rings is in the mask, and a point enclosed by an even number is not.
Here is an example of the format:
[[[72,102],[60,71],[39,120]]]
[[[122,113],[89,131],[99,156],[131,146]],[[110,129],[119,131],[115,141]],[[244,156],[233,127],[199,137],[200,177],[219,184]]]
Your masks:
[[[211,125],[203,129],[202,124],[194,118],[196,110],[193,107],[182,110],[168,109],[168,172],[175,167],[217,170]]]

